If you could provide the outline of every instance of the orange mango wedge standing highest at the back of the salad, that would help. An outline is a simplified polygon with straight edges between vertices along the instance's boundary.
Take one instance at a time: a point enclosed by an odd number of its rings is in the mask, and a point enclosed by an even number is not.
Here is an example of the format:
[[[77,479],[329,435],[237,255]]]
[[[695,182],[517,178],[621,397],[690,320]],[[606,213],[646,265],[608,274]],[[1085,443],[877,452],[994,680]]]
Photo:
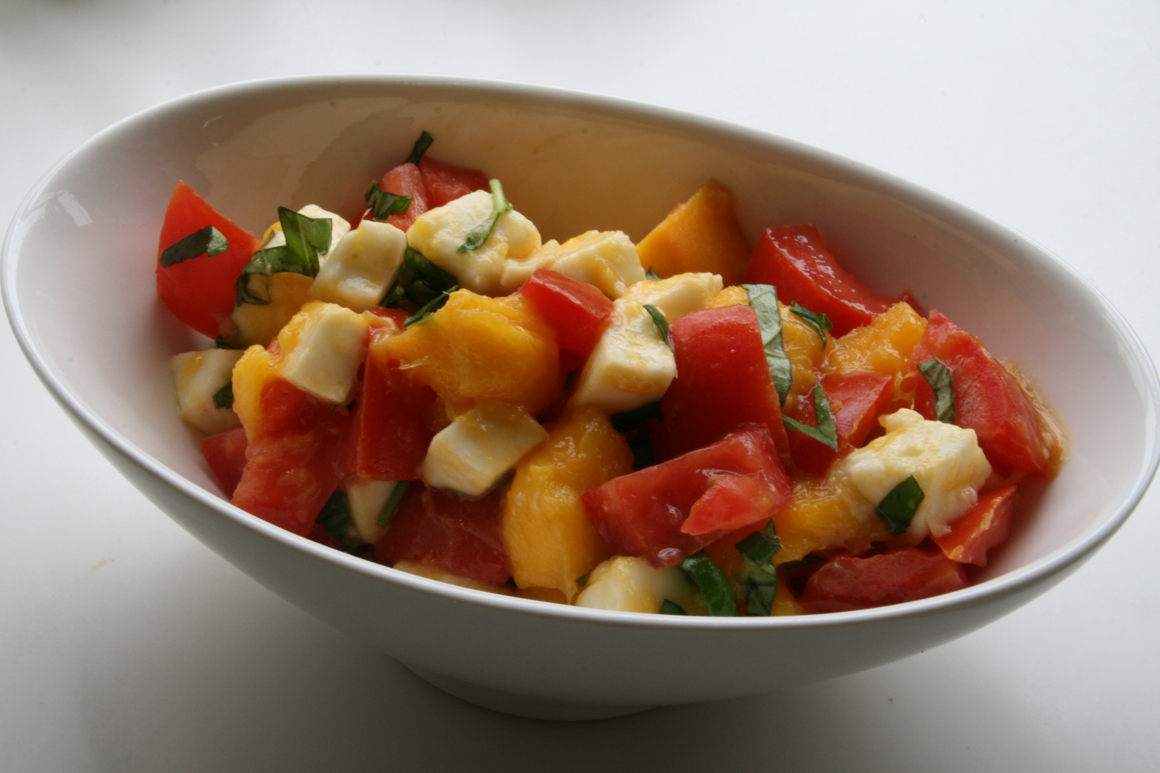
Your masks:
[[[745,278],[752,251],[733,213],[733,195],[713,180],[637,245],[640,265],[662,277],[710,271],[719,274],[726,285]]]

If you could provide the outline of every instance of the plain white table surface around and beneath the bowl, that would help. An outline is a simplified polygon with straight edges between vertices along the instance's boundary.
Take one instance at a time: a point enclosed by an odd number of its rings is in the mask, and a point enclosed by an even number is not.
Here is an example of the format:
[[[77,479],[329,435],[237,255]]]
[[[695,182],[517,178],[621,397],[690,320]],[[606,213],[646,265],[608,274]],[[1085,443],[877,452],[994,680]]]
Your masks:
[[[1160,351],[1154,0],[3,0],[0,221],[126,115],[312,72],[544,83],[788,134],[1013,226]],[[937,650],[536,722],[437,692],[210,553],[97,455],[0,327],[2,771],[1160,770],[1157,491],[1073,577]]]

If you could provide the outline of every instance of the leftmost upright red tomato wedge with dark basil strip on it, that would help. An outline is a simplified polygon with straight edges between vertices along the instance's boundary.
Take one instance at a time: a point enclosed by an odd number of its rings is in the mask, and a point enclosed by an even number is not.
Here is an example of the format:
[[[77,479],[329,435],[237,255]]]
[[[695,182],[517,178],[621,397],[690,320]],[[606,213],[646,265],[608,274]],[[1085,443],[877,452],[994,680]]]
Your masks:
[[[217,228],[229,242],[224,253],[202,254],[169,267],[161,254],[205,226]],[[174,316],[204,336],[222,334],[222,322],[233,313],[234,283],[261,242],[205,203],[194,189],[179,182],[165,211],[157,256],[157,294]]]

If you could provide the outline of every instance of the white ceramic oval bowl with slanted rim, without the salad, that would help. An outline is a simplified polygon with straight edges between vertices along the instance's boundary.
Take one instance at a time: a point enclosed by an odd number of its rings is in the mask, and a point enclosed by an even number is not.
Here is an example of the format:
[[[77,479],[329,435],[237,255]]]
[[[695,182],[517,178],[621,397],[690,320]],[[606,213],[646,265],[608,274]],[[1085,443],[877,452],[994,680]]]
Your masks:
[[[441,160],[502,178],[545,239],[616,228],[639,240],[708,177],[733,191],[751,242],[766,226],[817,224],[871,286],[911,287],[1015,358],[1066,423],[1066,466],[1028,497],[1010,544],[974,586],[803,618],[638,615],[493,596],[345,555],[238,510],[174,409],[168,358],[205,341],[154,292],[173,185],[184,180],[252,231],[278,204],[350,212],[421,130],[436,137]],[[146,110],[82,145],[32,190],[5,242],[3,298],[24,353],[70,416],[197,539],[437,686],[528,716],[614,716],[759,693],[950,641],[1079,567],[1128,518],[1157,467],[1158,388],[1144,348],[1097,292],[1025,239],[795,141],[549,88],[295,78]]]

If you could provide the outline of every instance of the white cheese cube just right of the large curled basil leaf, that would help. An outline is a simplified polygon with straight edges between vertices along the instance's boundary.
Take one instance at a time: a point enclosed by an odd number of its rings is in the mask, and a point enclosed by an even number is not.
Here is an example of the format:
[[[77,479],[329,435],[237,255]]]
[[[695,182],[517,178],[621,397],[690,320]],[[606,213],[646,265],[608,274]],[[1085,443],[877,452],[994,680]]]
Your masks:
[[[389,223],[363,220],[339,241],[322,264],[312,297],[365,312],[394,282],[407,249],[407,236]]]

